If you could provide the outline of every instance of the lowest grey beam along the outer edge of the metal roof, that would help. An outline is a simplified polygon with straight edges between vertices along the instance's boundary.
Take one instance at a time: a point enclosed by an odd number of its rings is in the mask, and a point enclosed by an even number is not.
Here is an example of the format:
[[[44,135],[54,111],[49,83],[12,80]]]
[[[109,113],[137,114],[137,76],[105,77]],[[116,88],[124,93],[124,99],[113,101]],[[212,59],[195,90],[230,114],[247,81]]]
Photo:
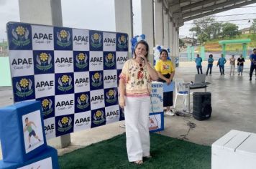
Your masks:
[[[203,13],[203,14],[198,14],[198,15],[191,16],[191,17],[186,17],[186,18],[184,18],[184,14],[183,14],[183,20],[184,21],[191,21],[193,19],[198,19],[198,18],[201,18],[201,17],[204,17],[204,16],[209,16],[209,15],[216,14],[216,13],[219,13],[219,12],[222,12],[222,11],[227,11],[227,10],[230,10],[230,9],[235,9],[235,8],[238,8],[238,7],[241,7],[241,6],[254,4],[254,3],[255,3],[255,1],[247,1],[247,2],[244,2],[244,3],[241,3],[241,4],[236,4],[236,5],[233,5],[233,6],[226,7],[224,9],[216,9],[214,11],[209,11],[209,12],[206,12],[206,13]],[[212,6],[211,9],[214,9],[214,6]]]

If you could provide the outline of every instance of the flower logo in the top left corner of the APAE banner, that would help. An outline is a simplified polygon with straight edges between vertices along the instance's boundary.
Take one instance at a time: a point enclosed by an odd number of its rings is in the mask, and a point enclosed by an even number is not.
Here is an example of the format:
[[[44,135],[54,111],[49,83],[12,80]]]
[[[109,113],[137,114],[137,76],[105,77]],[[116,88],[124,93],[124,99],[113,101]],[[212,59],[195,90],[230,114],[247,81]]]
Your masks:
[[[27,46],[30,43],[27,27],[17,26],[16,29],[12,29],[12,37],[12,42],[19,47]]]

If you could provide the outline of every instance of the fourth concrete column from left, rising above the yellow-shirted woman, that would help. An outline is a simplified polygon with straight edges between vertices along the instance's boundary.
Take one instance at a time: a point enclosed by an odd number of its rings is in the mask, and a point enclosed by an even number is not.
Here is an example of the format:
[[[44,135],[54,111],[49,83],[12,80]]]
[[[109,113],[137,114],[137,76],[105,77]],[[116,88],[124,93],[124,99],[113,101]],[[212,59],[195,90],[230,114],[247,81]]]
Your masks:
[[[163,0],[155,1],[155,45],[163,45]]]

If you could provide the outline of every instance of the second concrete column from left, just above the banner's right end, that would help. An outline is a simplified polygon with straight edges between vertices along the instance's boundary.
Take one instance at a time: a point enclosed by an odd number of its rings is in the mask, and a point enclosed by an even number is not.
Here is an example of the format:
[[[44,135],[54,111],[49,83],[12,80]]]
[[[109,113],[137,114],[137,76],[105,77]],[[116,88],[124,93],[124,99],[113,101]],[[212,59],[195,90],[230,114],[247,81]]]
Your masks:
[[[116,32],[127,33],[129,39],[133,37],[133,21],[132,21],[132,0],[115,0],[115,19],[116,19]],[[130,46],[130,43],[129,43]],[[131,55],[132,49],[129,47],[129,56]]]

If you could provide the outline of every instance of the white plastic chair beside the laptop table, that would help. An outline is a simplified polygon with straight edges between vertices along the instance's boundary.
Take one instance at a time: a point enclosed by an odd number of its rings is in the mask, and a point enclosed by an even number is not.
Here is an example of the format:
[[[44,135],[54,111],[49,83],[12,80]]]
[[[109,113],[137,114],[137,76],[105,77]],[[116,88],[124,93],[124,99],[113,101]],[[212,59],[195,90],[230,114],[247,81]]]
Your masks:
[[[186,86],[183,84],[184,79],[175,79],[175,100],[173,103],[173,108],[176,106],[177,98],[178,96],[183,96],[183,110],[186,110],[187,105],[187,96],[188,96],[188,90],[186,90]],[[190,92],[190,95],[193,94],[193,92]],[[190,102],[190,100],[188,100]]]

